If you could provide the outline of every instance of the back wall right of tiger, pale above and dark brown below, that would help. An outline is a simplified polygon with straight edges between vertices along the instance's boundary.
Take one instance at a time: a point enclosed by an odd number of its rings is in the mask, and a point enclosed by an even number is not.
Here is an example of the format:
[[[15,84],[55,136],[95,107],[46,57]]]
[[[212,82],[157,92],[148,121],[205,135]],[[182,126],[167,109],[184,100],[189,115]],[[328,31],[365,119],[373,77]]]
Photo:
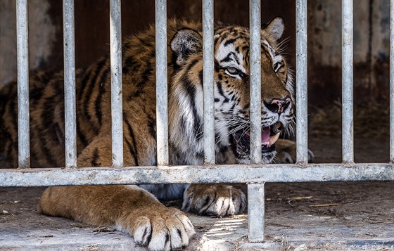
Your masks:
[[[310,101],[331,101],[341,97],[341,1],[309,2]],[[354,3],[355,101],[387,101],[390,1]]]

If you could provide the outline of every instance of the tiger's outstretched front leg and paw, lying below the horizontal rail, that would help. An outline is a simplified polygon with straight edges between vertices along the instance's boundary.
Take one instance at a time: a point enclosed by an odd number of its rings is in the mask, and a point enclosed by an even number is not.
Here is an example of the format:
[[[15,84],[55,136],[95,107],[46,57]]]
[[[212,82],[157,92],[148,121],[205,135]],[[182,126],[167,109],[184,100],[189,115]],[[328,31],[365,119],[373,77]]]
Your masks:
[[[50,187],[44,191],[38,211],[93,226],[115,226],[148,250],[182,248],[195,233],[183,212],[165,207],[137,186]]]

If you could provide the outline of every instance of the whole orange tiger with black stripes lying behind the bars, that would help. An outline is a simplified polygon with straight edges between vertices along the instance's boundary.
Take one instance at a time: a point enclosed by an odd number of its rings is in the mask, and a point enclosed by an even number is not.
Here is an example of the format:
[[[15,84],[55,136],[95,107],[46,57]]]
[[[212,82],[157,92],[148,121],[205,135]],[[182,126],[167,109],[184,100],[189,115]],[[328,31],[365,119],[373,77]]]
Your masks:
[[[279,139],[294,118],[293,72],[282,55],[284,20],[261,30],[262,162],[281,148],[295,160],[295,143]],[[203,40],[200,22],[167,20],[168,128],[170,165],[203,165]],[[250,32],[220,24],[214,33],[215,160],[250,163]],[[75,71],[78,167],[111,166],[110,58]],[[155,27],[122,44],[122,127],[127,166],[156,166]],[[1,155],[18,167],[16,83],[0,91]],[[30,77],[32,167],[65,165],[63,72]],[[182,210],[160,200],[183,198]],[[185,212],[226,217],[240,214],[246,195],[228,184],[63,186],[46,188],[37,207],[49,216],[93,226],[115,226],[148,250],[186,247],[195,234]]]

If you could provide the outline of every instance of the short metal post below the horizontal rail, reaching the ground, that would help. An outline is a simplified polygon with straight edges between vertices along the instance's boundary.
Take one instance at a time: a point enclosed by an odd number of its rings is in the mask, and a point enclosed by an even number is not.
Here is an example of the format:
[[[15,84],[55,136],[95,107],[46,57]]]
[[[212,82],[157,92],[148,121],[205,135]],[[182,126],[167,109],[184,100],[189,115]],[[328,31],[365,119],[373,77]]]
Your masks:
[[[248,184],[248,238],[250,242],[264,241],[265,230],[264,183]]]

